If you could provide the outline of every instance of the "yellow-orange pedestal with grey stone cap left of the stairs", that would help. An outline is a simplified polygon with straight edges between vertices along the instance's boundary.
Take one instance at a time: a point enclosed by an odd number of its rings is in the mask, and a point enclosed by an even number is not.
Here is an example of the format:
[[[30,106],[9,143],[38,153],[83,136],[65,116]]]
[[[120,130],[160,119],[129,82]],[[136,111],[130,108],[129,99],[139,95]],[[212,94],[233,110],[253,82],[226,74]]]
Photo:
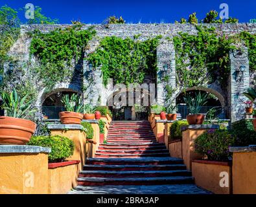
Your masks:
[[[49,124],[47,128],[51,131],[51,135],[66,136],[73,140],[75,149],[74,154],[66,158],[66,160],[79,160],[80,170],[82,170],[86,162],[86,134],[82,131],[80,124]]]

